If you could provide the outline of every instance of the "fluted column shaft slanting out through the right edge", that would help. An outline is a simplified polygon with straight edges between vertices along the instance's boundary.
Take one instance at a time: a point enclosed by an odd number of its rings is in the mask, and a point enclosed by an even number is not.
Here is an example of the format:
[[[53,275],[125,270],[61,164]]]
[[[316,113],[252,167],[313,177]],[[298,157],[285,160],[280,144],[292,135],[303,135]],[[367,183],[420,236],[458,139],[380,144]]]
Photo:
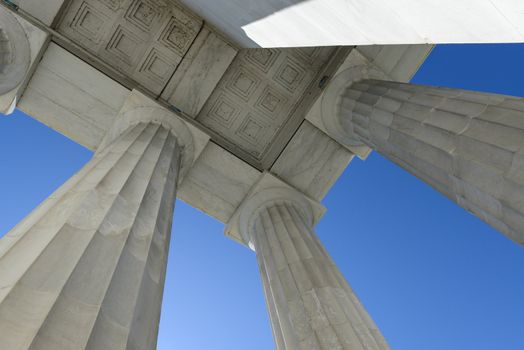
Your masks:
[[[524,99],[364,80],[338,118],[355,142],[524,244]]]

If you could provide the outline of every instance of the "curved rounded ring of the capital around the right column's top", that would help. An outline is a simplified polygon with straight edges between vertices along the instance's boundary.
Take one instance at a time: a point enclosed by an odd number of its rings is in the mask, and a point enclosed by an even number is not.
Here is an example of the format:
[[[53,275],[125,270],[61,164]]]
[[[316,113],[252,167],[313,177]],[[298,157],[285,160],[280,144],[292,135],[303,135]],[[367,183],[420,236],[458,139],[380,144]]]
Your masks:
[[[358,137],[348,133],[340,118],[341,97],[353,83],[365,79],[389,80],[380,69],[369,65],[353,66],[338,73],[322,95],[320,117],[322,126],[329,136],[348,148],[360,158],[369,154],[369,148]]]

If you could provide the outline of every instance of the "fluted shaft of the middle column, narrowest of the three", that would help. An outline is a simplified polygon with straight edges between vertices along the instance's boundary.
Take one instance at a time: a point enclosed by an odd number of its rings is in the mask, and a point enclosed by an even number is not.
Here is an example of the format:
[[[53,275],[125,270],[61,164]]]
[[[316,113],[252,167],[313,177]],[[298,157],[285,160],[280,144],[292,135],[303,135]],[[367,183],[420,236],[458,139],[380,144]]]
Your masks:
[[[250,241],[278,350],[389,349],[293,203],[275,202],[253,223]]]

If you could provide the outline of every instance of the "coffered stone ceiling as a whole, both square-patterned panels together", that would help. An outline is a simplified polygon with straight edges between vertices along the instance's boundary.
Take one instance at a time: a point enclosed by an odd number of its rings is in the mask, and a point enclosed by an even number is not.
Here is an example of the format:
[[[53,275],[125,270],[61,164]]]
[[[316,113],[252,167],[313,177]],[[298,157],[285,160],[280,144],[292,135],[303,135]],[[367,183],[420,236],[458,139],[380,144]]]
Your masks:
[[[167,104],[177,100],[169,91],[177,85],[179,65],[184,62],[180,71],[191,71],[188,66],[195,64],[192,77],[201,85],[187,84],[182,89],[194,91],[195,100],[205,102],[198,110],[182,112],[215,142],[259,169],[269,169],[297,130],[320,93],[326,67],[333,65],[340,51],[334,47],[238,50],[220,33],[209,39],[206,33],[214,30],[174,0],[72,0],[57,30],[132,81],[132,87]],[[203,39],[206,35],[209,41]],[[224,44],[219,44],[221,40]],[[197,49],[202,45],[209,47]],[[231,52],[220,51],[224,45],[238,53],[217,76],[211,67],[224,61],[220,55]],[[206,75],[210,71],[214,81]],[[209,92],[204,95],[204,90]]]

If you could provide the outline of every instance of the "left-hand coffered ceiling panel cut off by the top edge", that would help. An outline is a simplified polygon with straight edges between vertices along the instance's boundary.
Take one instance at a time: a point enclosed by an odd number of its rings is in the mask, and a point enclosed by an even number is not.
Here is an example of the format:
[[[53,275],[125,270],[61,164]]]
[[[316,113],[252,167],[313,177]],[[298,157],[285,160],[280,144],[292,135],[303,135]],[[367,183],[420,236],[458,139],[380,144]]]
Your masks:
[[[58,31],[159,94],[201,27],[173,1],[73,0]]]

